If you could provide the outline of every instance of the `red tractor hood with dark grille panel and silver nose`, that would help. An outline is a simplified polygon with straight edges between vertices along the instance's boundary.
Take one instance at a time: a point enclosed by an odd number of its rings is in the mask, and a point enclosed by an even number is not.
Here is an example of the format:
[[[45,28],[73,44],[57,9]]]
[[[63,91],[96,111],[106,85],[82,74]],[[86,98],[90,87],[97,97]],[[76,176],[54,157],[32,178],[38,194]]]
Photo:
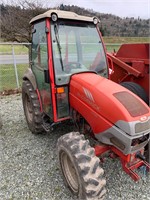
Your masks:
[[[75,74],[70,80],[70,105],[99,134],[112,126],[128,135],[150,132],[150,109],[126,88],[95,73]]]

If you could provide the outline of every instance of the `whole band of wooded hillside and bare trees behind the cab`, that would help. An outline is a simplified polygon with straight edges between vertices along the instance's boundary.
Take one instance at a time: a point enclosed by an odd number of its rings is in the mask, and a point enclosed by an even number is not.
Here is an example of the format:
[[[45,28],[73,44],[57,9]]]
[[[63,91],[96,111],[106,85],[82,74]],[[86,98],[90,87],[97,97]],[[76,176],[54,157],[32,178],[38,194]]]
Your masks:
[[[41,5],[28,3],[19,6],[0,5],[1,10],[1,37],[5,41],[30,42],[31,29],[29,21],[32,17],[51,8],[43,8]],[[149,37],[149,19],[120,18],[111,14],[94,12],[78,6],[61,4],[55,9],[73,11],[80,15],[97,16],[103,36]]]

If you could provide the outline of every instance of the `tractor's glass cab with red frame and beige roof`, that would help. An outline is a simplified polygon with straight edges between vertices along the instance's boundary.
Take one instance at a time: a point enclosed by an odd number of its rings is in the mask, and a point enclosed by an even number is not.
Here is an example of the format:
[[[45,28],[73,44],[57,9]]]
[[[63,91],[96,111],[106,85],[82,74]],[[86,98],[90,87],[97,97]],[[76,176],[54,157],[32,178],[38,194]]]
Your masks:
[[[73,12],[51,10],[30,22],[33,25],[31,69],[43,112],[54,122],[70,117],[71,76],[91,72],[108,77],[98,21]]]

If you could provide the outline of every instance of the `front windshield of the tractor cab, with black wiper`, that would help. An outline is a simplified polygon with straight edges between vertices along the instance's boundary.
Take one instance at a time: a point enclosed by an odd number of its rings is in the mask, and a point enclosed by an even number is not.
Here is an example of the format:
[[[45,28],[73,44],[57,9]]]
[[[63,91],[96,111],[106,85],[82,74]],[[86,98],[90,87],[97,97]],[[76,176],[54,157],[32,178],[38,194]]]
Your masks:
[[[95,71],[107,77],[106,57],[95,25],[61,22],[51,25],[55,81],[67,84],[70,76]]]

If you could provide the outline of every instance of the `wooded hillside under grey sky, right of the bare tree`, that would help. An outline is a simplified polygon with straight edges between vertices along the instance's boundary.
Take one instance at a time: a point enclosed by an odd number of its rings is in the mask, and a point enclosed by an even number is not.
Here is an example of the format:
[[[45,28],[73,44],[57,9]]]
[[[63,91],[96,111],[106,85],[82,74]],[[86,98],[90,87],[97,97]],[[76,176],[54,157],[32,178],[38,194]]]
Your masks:
[[[138,19],[120,18],[115,15],[94,12],[93,10],[87,10],[78,6],[61,5],[60,8],[81,15],[97,16],[101,21],[100,29],[104,36],[149,37],[149,19],[144,20],[140,17]]]

